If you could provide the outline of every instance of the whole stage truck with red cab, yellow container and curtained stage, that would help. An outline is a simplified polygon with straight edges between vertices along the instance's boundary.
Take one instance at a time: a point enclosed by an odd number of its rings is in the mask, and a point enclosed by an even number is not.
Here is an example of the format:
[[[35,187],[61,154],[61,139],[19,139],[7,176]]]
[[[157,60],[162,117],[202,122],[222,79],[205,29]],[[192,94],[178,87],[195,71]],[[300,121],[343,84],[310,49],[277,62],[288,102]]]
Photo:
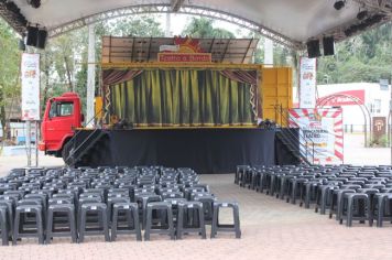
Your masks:
[[[292,106],[292,69],[250,64],[257,43],[105,36],[96,127],[83,127],[77,94],[51,98],[40,149],[70,166],[287,163],[295,145],[258,120],[284,121],[274,107]]]

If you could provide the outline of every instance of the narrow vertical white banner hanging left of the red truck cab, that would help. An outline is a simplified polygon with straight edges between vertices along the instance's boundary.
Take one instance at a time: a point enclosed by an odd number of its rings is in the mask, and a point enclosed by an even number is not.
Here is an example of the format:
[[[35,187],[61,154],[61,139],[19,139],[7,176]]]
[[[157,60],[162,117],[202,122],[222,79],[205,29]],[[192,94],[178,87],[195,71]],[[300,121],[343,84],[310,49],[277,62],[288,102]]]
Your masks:
[[[40,120],[40,54],[22,55],[22,120]]]

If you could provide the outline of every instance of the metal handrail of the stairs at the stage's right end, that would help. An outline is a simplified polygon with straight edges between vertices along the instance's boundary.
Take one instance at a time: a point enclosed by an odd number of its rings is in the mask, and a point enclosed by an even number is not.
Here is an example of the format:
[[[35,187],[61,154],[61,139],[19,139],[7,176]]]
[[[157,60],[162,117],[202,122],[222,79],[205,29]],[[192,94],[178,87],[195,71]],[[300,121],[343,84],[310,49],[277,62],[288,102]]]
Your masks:
[[[307,164],[314,164],[315,162],[315,143],[314,141],[306,137],[302,128],[290,128],[290,113],[287,109],[283,109],[282,106],[274,106],[275,113],[280,116],[280,126],[282,138],[288,142],[288,144],[294,148],[298,148],[298,154],[302,160]],[[284,122],[284,123],[283,123]],[[284,128],[283,126],[286,126]],[[295,131],[295,132],[294,132]]]

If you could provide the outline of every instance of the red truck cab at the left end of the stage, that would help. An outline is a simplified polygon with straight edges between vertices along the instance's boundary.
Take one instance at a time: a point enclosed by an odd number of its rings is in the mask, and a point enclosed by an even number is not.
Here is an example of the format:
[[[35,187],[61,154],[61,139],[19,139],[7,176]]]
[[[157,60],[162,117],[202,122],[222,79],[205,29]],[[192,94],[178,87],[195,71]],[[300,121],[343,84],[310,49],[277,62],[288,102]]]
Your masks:
[[[76,93],[65,93],[47,100],[41,124],[39,149],[45,154],[62,156],[64,145],[74,136],[74,129],[84,121],[80,98]]]

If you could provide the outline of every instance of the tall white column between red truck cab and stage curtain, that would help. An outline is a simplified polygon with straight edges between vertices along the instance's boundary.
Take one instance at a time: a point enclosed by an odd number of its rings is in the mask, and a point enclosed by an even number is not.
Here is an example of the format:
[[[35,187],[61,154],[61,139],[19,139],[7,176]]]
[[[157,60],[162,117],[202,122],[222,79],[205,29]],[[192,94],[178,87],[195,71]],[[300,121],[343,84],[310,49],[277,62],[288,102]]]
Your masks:
[[[87,127],[94,126],[94,98],[96,89],[96,34],[95,24],[88,25],[88,69],[87,69],[87,111],[86,123]],[[90,121],[91,120],[91,121]]]

